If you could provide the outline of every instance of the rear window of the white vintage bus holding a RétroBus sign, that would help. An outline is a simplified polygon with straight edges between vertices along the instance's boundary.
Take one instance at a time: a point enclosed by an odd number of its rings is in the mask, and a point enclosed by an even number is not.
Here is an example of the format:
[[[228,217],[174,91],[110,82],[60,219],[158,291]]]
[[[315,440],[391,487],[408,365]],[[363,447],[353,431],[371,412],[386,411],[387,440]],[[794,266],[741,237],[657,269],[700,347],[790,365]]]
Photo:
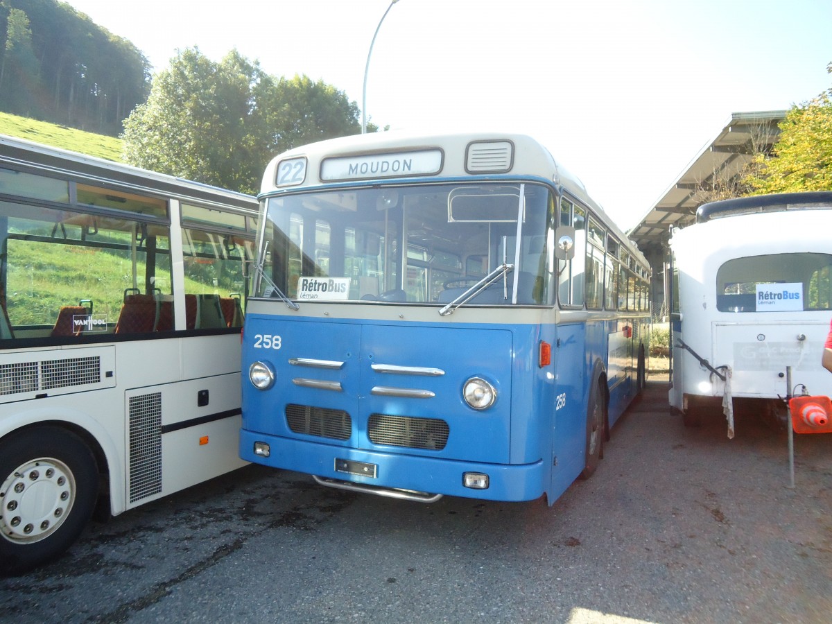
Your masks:
[[[721,312],[832,309],[832,255],[770,254],[728,260],[716,272]],[[784,293],[786,299],[783,299]]]

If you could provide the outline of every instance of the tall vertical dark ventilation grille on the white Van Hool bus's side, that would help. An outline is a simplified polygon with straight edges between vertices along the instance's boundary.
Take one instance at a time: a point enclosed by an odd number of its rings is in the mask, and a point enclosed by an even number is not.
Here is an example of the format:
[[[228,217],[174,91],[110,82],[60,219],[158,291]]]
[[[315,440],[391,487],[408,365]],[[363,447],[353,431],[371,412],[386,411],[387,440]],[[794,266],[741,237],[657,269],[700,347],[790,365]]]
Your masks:
[[[130,502],[161,493],[161,392],[131,397]]]

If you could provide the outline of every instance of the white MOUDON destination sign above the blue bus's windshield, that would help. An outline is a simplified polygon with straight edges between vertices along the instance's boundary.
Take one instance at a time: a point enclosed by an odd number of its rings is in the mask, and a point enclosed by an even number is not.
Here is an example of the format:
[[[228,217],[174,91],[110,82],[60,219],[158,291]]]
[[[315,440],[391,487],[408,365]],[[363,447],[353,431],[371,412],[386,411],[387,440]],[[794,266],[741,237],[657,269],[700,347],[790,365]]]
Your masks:
[[[322,181],[366,180],[399,176],[431,176],[442,171],[441,150],[400,151],[327,158],[320,166]]]

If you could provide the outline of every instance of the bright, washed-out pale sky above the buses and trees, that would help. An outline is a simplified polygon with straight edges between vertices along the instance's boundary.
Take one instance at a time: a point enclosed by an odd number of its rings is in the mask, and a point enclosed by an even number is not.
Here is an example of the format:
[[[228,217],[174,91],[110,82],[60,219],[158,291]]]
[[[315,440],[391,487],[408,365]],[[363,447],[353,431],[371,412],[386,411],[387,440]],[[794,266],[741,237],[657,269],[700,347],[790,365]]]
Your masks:
[[[624,229],[731,113],[832,87],[830,0],[68,0],[154,72],[236,49],[391,129],[521,131]]]

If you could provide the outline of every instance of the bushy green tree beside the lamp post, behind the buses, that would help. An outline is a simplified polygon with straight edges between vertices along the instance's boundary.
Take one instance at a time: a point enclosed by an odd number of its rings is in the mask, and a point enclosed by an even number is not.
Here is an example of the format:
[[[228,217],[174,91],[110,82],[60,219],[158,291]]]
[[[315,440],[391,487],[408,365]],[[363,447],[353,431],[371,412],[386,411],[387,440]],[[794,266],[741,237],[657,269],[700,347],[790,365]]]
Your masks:
[[[156,75],[147,102],[125,121],[123,157],[254,194],[272,156],[357,133],[358,118],[358,106],[324,82],[275,80],[236,50],[217,63],[194,47]]]

